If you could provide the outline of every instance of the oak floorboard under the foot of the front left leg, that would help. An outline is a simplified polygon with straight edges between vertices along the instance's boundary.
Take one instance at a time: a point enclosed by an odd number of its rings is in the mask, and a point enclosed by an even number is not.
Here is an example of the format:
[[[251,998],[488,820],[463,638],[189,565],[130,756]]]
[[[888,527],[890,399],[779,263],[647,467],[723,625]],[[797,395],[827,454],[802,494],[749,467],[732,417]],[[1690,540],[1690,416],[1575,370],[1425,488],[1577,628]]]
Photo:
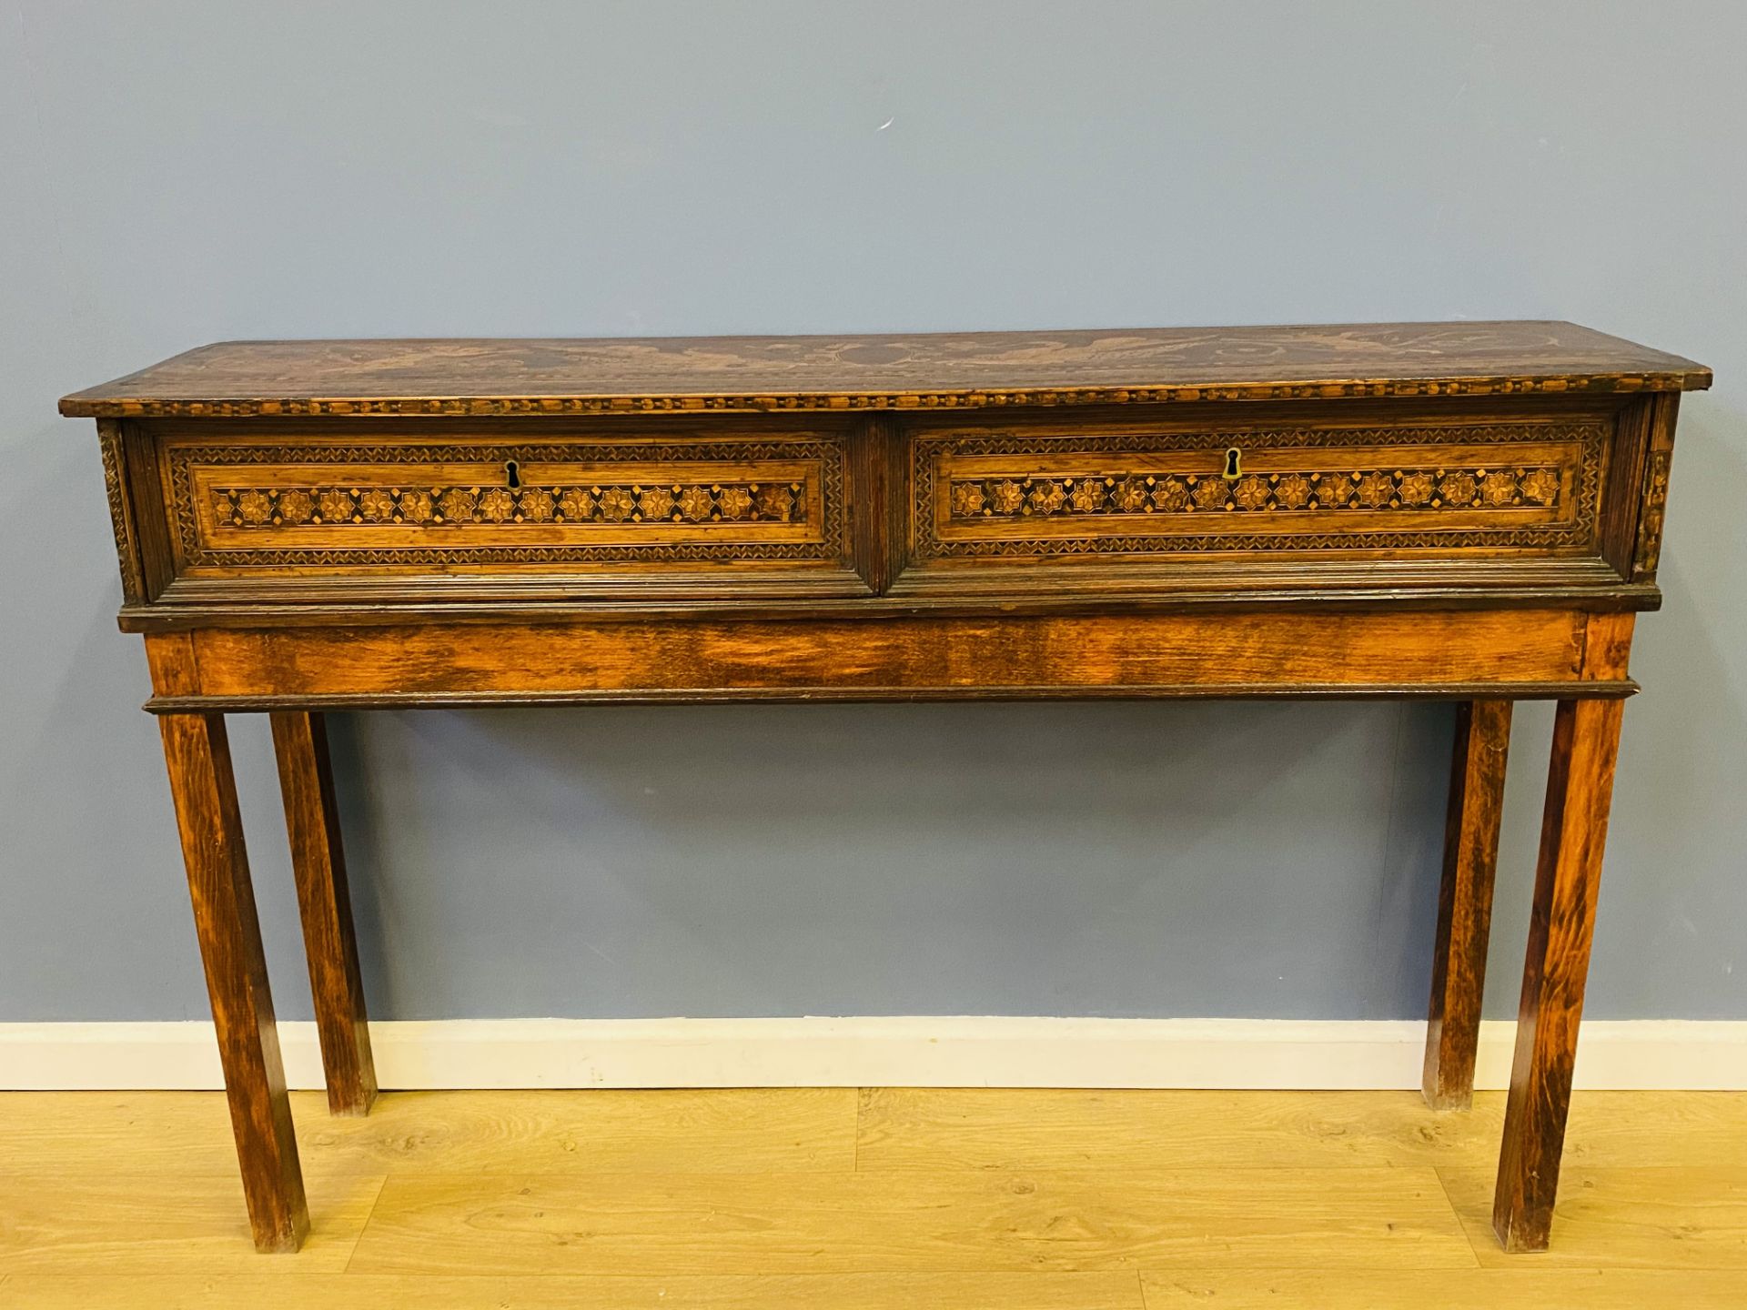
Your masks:
[[[234,1165],[229,1174],[117,1169],[108,1177],[0,1165],[0,1273],[337,1273],[383,1177],[304,1162],[309,1237],[295,1256],[262,1256]]]

